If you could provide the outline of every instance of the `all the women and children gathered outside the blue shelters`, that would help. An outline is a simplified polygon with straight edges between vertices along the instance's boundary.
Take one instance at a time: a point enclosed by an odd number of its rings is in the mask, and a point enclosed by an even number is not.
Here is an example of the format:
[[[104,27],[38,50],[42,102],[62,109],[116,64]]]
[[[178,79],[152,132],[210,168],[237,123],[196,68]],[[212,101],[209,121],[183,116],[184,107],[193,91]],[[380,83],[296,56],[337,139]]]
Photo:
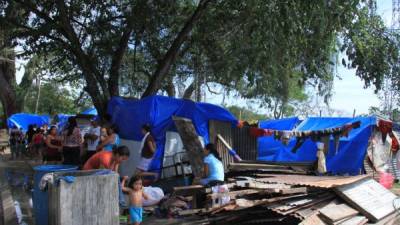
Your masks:
[[[142,221],[142,198],[148,199],[143,191],[142,177],[154,176],[158,173],[149,171],[151,161],[156,151],[156,142],[151,134],[151,128],[142,126],[143,139],[140,145],[140,162],[135,175],[128,181],[122,177],[119,183],[120,204],[124,204],[123,192],[129,195],[129,211],[132,224]],[[110,169],[119,172],[119,165],[129,159],[128,147],[121,145],[118,130],[115,126],[99,126],[98,122],[91,121],[88,132],[82,135],[76,119],[70,117],[64,130],[58,131],[56,126],[47,126],[28,129],[23,134],[22,130],[11,135],[12,148],[19,148],[23,143],[29,143],[33,154],[40,155],[44,163],[63,163],[67,165],[80,165],[83,170]],[[14,146],[14,147],[13,147]],[[14,150],[12,152],[18,152]],[[222,160],[213,144],[207,144],[203,150],[204,175],[202,179],[194,182],[203,185],[218,184],[224,181],[224,168]],[[128,185],[125,185],[128,183]]]

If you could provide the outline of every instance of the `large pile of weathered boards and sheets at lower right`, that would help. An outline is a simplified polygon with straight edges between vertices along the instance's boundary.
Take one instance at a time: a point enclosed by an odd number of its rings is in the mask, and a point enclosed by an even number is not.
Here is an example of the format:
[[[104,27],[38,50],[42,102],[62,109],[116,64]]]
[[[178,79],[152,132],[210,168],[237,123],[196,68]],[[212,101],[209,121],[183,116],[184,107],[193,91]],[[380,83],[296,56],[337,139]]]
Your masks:
[[[283,167],[275,169],[291,170]],[[251,163],[230,168],[234,176],[227,178],[229,192],[212,193],[201,186],[176,189],[176,194],[187,190],[192,199],[206,199],[179,215],[207,218],[203,224],[400,224],[392,204],[397,197],[369,176],[282,174],[271,172],[272,165]],[[215,204],[227,196],[229,202]]]

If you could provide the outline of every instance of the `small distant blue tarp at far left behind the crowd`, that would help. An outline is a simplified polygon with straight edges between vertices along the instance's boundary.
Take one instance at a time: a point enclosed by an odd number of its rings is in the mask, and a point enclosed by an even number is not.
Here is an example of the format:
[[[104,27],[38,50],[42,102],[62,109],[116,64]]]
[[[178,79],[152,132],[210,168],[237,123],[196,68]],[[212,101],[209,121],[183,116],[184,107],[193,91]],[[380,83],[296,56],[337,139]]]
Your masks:
[[[37,126],[50,124],[50,117],[48,115],[17,113],[7,119],[8,127],[22,128],[24,132],[28,130],[30,124],[36,124]]]

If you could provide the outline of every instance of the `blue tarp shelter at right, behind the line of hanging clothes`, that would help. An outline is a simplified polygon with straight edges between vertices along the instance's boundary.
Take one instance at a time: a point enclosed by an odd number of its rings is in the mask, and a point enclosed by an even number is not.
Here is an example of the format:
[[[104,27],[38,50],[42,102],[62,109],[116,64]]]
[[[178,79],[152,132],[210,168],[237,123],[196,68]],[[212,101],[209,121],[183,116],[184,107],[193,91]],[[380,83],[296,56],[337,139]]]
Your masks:
[[[329,152],[326,156],[326,166],[329,172],[334,174],[359,174],[363,169],[363,160],[368,148],[368,140],[376,125],[375,117],[356,117],[356,118],[308,118],[303,121],[296,130],[323,130],[343,126],[347,123],[360,121],[361,127],[353,129],[348,137],[340,138],[339,151],[335,154],[334,142],[331,137]],[[296,140],[292,139],[288,146],[275,142],[264,142],[259,146],[260,160],[268,161],[315,161],[317,146],[311,139],[307,139],[296,153],[291,149]],[[270,149],[269,146],[274,147]],[[267,157],[265,157],[267,155]],[[264,157],[263,157],[264,156]]]

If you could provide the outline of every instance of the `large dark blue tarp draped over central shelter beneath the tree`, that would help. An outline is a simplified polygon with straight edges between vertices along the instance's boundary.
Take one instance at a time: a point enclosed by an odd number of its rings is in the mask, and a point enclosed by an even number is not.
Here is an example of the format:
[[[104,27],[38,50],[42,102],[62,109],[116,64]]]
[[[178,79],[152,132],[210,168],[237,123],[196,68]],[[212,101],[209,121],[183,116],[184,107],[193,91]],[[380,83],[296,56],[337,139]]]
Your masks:
[[[162,168],[165,134],[176,129],[172,116],[191,119],[197,134],[202,136],[206,143],[209,120],[237,124],[236,118],[222,107],[164,96],[149,96],[141,100],[113,97],[107,112],[112,116],[112,122],[118,126],[119,135],[123,139],[141,141],[141,126],[145,123],[152,126],[152,134],[157,142],[157,151],[150,166],[152,171],[160,171]]]

